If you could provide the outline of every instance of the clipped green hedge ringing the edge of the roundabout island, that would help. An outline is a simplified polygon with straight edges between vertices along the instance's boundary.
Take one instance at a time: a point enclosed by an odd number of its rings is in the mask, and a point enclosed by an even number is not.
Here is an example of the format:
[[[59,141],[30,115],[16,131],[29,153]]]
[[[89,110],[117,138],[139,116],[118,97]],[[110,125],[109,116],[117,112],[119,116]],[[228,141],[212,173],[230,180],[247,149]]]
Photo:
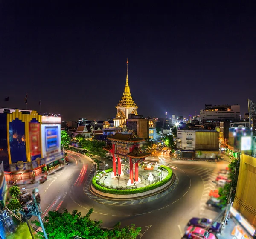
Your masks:
[[[135,193],[143,193],[152,189],[155,189],[157,187],[161,187],[162,185],[166,184],[168,181],[170,181],[172,179],[172,170],[169,167],[166,166],[161,166],[164,169],[167,170],[168,175],[166,176],[165,179],[163,179],[162,181],[159,181],[157,183],[145,186],[145,187],[140,187],[140,188],[136,188],[136,189],[127,189],[127,190],[118,190],[118,189],[111,189],[111,188],[106,188],[103,187],[99,184],[96,183],[96,177],[93,177],[92,180],[92,184],[93,187],[103,193],[111,193],[111,194],[135,194]],[[109,168],[107,170],[105,170],[106,173],[112,172],[113,168]],[[102,172],[101,172],[102,173]],[[97,175],[99,176],[99,175]]]

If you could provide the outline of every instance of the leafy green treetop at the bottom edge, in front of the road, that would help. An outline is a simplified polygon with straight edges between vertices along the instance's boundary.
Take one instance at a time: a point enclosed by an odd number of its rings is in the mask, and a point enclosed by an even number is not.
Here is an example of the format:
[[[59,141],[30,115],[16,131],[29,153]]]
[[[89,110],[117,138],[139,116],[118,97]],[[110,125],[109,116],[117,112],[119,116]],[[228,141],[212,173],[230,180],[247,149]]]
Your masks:
[[[91,220],[90,215],[93,209],[90,209],[85,216],[77,210],[69,213],[64,209],[63,213],[58,211],[49,211],[45,217],[44,228],[49,239],[73,239],[75,236],[86,239],[135,239],[140,233],[141,228],[135,228],[135,225],[120,228],[120,222],[111,230],[103,228],[102,221]],[[33,221],[35,225],[40,226],[38,221]],[[41,239],[44,238],[42,232],[38,232]]]

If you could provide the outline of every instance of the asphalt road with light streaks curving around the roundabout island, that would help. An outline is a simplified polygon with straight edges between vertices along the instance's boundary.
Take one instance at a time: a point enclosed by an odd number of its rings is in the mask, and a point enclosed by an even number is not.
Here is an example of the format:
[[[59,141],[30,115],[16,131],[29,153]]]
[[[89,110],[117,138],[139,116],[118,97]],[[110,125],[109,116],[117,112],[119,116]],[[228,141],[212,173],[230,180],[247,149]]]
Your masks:
[[[49,210],[61,211],[64,208],[79,210],[85,215],[88,209],[93,208],[91,218],[102,220],[105,227],[113,227],[120,221],[122,225],[142,227],[138,238],[179,239],[192,217],[214,219],[219,214],[208,208],[205,202],[209,198],[209,190],[215,188],[212,181],[218,170],[227,166],[227,161],[181,161],[166,153],[164,164],[172,168],[178,179],[173,190],[145,199],[112,201],[90,193],[93,170],[88,158],[77,153],[68,153],[68,157],[70,163],[63,170],[48,176],[47,181],[38,186],[42,216]],[[157,154],[146,161],[163,162]]]

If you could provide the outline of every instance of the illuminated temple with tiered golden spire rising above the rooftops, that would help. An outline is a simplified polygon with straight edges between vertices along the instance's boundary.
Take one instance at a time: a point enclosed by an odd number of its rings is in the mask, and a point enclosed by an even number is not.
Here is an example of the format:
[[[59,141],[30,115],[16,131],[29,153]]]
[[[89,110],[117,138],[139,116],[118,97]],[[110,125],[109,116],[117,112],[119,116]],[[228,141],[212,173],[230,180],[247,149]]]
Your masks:
[[[127,58],[127,72],[126,72],[126,83],[125,83],[125,91],[123,93],[122,99],[116,106],[117,114],[116,118],[114,118],[115,127],[122,127],[126,120],[128,119],[128,114],[137,115],[138,106],[134,103],[132,99],[129,82],[128,82],[128,58]]]

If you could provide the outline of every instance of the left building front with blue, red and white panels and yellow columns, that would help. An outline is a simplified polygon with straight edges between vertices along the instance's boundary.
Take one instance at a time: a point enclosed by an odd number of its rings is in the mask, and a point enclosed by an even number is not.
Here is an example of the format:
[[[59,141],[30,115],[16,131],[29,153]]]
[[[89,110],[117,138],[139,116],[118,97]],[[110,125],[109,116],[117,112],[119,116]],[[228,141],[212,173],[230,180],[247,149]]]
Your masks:
[[[39,176],[44,166],[63,161],[61,117],[16,109],[0,114],[0,158],[8,179],[22,184]]]

